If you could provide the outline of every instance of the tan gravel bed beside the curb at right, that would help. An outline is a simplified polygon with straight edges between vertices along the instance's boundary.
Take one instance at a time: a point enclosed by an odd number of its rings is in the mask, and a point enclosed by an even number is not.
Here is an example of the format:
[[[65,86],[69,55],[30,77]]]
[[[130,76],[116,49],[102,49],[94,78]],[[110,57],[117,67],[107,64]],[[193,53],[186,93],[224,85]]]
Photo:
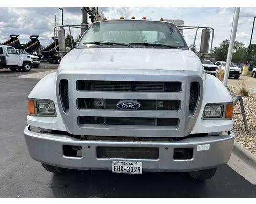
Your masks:
[[[230,91],[238,93],[237,88],[228,88]],[[237,134],[236,141],[256,156],[256,94],[249,92],[249,96],[243,96],[243,104],[249,127],[249,133],[245,131],[242,115],[234,114],[234,132]],[[236,106],[234,106],[234,112],[241,113],[239,101]]]

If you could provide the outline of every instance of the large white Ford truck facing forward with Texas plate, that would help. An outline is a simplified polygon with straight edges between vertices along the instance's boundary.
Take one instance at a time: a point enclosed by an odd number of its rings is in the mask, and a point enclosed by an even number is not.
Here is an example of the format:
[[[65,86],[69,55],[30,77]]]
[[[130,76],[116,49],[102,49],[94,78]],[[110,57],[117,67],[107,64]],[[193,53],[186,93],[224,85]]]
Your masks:
[[[33,88],[23,133],[30,156],[53,173],[189,172],[205,180],[230,159],[232,115],[228,90],[205,73],[175,24],[103,18]]]

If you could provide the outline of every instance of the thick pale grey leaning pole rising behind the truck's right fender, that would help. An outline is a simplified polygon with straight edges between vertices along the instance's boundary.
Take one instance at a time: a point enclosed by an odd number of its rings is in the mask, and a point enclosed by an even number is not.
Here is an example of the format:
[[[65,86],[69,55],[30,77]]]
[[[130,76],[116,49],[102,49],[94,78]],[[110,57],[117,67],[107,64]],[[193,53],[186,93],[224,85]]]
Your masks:
[[[229,42],[229,47],[228,47],[228,52],[227,52],[225,74],[224,74],[224,79],[223,79],[224,86],[227,86],[230,64],[231,64],[232,55],[233,55],[234,41],[236,40],[236,34],[237,34],[237,28],[238,28],[239,12],[240,12],[240,7],[235,7],[232,30],[231,30],[231,34],[230,34],[230,42]]]

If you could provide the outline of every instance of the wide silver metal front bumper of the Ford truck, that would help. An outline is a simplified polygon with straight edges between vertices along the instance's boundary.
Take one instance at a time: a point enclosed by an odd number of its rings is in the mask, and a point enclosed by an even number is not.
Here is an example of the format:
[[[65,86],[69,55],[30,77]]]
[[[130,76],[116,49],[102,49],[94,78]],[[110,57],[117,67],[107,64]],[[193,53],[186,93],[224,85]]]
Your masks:
[[[30,156],[42,163],[84,170],[111,170],[112,161],[137,161],[143,163],[143,171],[187,172],[202,170],[225,164],[229,161],[234,133],[220,136],[194,137],[177,142],[104,141],[79,140],[67,135],[37,133],[24,129],[24,137]],[[198,145],[209,144],[208,150],[198,151]],[[67,157],[63,145],[82,147],[82,157]],[[97,158],[97,147],[157,147],[158,159]],[[188,160],[174,160],[175,148],[193,148],[193,157]]]

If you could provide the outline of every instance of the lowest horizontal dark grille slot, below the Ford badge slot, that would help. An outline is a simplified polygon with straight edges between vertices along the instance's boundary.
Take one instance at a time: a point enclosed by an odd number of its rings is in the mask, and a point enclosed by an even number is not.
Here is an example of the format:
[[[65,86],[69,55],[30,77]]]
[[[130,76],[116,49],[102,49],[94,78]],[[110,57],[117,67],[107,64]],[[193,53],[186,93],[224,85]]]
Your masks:
[[[79,116],[79,125],[141,125],[141,126],[173,126],[179,124],[178,118],[133,118],[133,117],[92,117]]]

